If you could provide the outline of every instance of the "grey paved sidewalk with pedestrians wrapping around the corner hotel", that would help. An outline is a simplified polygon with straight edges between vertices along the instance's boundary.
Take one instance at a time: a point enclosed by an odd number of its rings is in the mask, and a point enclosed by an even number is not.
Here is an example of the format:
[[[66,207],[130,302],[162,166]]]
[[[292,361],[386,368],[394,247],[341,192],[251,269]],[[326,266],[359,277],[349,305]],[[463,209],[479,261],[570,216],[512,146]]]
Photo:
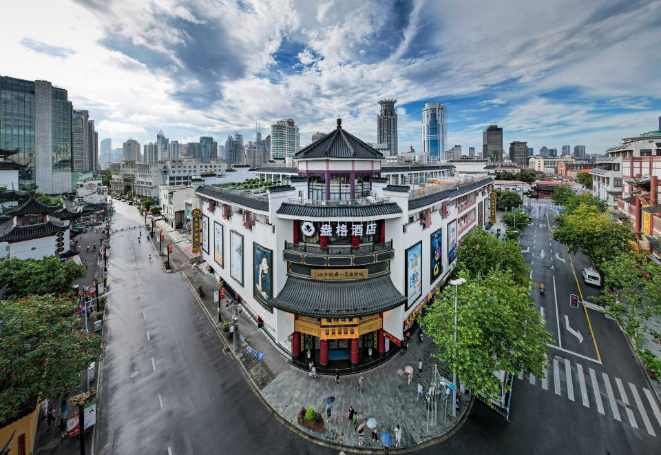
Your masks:
[[[158,223],[157,223],[158,224]],[[158,250],[158,229],[155,230],[154,245]],[[189,265],[189,256],[185,250],[187,243],[169,238],[166,231],[165,244],[178,245],[170,254],[173,271],[183,273],[191,287],[202,283],[204,297],[198,299],[204,307],[205,312],[213,321],[218,321],[218,305],[213,303],[213,292],[217,289],[216,279],[204,270],[206,267],[193,267]],[[224,299],[221,308],[226,308],[228,299]],[[228,311],[222,312],[222,319],[227,321],[230,315]],[[342,376],[341,383],[333,383],[333,376],[319,376],[317,381],[308,377],[306,371],[293,367],[286,361],[286,357],[278,352],[277,347],[267,338],[269,335],[257,327],[254,315],[242,312],[238,322],[238,330],[244,336],[246,343],[236,340],[235,359],[244,367],[244,372],[251,378],[251,386],[258,392],[262,401],[270,407],[270,411],[280,417],[290,429],[300,436],[316,438],[326,445],[341,446],[353,452],[364,450],[383,449],[381,441],[371,441],[370,432],[365,428],[364,445],[357,443],[357,433],[353,425],[348,422],[348,408],[352,406],[359,412],[359,423],[364,423],[368,418],[374,417],[379,423],[377,429],[379,434],[383,431],[390,432],[395,442],[393,429],[399,425],[402,429],[402,448],[411,448],[415,445],[426,443],[433,439],[441,438],[457,428],[459,423],[465,420],[465,412],[468,409],[470,396],[461,396],[461,410],[457,417],[452,418],[452,395],[448,398],[448,416],[444,417],[444,402],[439,403],[438,425],[427,427],[427,410],[424,398],[415,401],[417,382],[420,381],[427,392],[432,381],[434,360],[430,357],[432,353],[432,342],[426,338],[419,343],[412,341],[406,354],[396,354],[390,361],[379,367],[363,372]],[[219,336],[223,336],[220,335]],[[232,350],[231,336],[226,338],[226,352]],[[247,346],[246,346],[247,345]],[[247,347],[255,351],[264,351],[264,360],[258,362],[249,354]],[[417,372],[418,359],[423,361],[423,374]],[[261,365],[260,365],[261,364]],[[415,370],[414,380],[407,385],[407,375],[404,367],[410,365]],[[439,366],[439,372],[443,376],[451,376],[444,372]],[[364,391],[357,390],[358,377],[364,377]],[[301,407],[314,407],[317,412],[325,415],[326,398],[335,397],[333,403],[333,417],[325,422],[325,431],[322,434],[313,432],[311,429],[300,427],[297,416]],[[447,437],[447,436],[446,436]],[[394,448],[394,445],[393,447]]]

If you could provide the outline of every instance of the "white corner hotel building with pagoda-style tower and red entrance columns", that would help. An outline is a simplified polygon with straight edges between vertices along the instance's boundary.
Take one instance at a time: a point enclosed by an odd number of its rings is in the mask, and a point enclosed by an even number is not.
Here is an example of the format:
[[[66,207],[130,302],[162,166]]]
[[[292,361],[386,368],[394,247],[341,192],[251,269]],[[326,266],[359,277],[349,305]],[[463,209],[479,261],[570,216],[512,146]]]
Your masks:
[[[493,179],[391,184],[384,156],[339,119],[295,161],[264,194],[199,187],[193,251],[294,365],[309,350],[321,372],[373,367],[447,279],[457,241],[487,223]]]

